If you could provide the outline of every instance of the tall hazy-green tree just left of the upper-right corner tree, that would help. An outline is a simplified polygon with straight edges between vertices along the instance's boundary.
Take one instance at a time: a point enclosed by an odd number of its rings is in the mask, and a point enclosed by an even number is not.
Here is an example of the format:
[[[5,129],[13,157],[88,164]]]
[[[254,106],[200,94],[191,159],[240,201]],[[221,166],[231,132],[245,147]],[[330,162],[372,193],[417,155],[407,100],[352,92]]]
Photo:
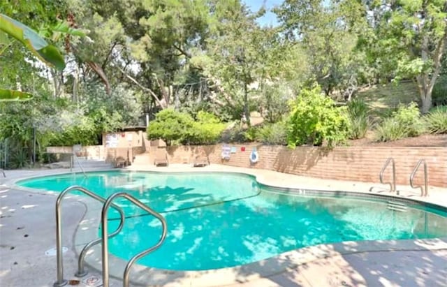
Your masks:
[[[348,0],[286,0],[275,9],[287,38],[305,47],[312,77],[326,95],[356,90],[366,70],[356,49],[365,21],[359,11],[359,4]]]

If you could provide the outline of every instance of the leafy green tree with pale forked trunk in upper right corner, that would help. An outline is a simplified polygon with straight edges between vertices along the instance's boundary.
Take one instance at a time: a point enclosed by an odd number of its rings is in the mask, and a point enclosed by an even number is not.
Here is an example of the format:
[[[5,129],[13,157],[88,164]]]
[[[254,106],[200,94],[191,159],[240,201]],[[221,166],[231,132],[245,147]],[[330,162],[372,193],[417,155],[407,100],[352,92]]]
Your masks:
[[[441,72],[447,43],[447,2],[363,1],[374,34],[362,39],[376,51],[376,61],[396,80],[411,78],[418,84],[421,110],[432,106],[432,91]]]

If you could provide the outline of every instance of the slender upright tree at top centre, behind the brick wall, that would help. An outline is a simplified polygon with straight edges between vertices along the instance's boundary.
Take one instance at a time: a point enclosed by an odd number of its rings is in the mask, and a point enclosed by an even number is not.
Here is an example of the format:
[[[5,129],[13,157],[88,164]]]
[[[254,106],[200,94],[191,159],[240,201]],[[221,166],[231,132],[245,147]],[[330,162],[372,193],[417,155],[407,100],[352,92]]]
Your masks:
[[[207,50],[196,53],[191,64],[202,68],[212,82],[217,94],[213,101],[228,109],[233,119],[244,118],[250,124],[250,85],[261,87],[266,51],[277,31],[259,27],[256,18],[265,11],[250,13],[239,0],[214,1],[212,11]]]

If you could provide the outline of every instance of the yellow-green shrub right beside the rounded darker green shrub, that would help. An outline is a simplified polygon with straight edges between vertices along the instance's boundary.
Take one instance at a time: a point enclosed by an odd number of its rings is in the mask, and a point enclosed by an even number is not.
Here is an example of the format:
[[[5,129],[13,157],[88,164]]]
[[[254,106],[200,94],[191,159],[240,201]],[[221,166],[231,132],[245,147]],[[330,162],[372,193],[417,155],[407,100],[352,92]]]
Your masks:
[[[219,140],[225,128],[216,116],[209,112],[200,111],[197,114],[197,122],[194,122],[191,131],[184,138],[184,142],[191,145],[211,145]]]

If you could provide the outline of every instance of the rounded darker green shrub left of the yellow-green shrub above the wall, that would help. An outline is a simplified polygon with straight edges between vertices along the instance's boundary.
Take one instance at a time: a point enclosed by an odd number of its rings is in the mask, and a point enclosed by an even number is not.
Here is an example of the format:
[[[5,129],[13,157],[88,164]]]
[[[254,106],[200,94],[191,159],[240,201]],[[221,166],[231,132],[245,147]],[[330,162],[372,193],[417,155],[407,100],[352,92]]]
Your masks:
[[[171,145],[173,141],[182,142],[190,136],[193,122],[193,118],[184,112],[173,109],[161,110],[147,127],[147,138],[149,140],[161,138],[166,145]]]

